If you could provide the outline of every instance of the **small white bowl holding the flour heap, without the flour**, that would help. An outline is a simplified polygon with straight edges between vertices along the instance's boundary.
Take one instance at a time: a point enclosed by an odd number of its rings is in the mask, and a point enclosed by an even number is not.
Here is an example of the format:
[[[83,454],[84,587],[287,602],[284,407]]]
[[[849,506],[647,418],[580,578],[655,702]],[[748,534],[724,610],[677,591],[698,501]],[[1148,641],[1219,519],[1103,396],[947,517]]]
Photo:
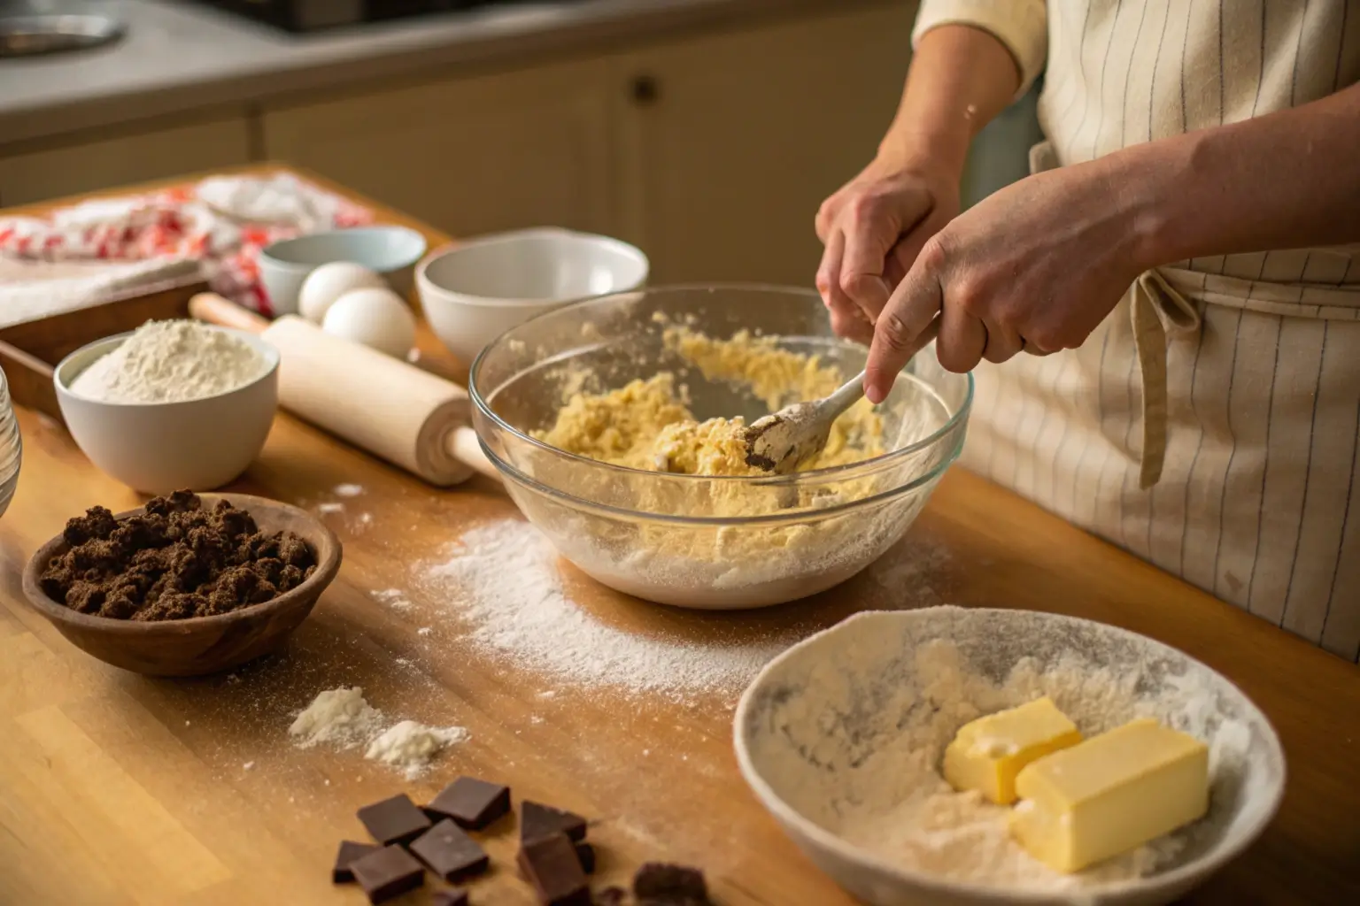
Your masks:
[[[279,403],[279,352],[254,334],[227,327],[269,363],[256,380],[216,397],[185,402],[101,402],[71,391],[71,382],[131,333],[87,344],[57,364],[53,382],[61,416],[95,466],[135,490],[165,494],[212,490],[246,470]]]

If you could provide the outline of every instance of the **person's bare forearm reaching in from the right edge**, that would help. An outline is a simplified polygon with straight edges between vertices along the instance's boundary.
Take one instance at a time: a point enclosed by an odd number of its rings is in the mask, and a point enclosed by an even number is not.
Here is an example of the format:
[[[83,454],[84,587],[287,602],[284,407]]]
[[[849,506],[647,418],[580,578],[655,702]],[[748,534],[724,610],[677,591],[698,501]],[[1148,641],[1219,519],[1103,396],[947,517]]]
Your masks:
[[[1360,242],[1360,86],[1085,166],[1130,212],[1144,266]]]

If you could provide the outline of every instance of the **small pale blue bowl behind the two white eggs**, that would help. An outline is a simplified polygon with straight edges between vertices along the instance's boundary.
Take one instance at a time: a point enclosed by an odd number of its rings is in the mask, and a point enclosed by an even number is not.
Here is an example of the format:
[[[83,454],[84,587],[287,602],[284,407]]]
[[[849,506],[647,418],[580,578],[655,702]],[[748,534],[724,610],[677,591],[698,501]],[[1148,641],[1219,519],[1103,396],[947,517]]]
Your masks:
[[[307,274],[332,261],[352,261],[382,274],[401,296],[408,296],[415,265],[426,240],[409,227],[352,227],[280,239],[260,253],[260,283],[276,315],[298,311],[298,291]]]

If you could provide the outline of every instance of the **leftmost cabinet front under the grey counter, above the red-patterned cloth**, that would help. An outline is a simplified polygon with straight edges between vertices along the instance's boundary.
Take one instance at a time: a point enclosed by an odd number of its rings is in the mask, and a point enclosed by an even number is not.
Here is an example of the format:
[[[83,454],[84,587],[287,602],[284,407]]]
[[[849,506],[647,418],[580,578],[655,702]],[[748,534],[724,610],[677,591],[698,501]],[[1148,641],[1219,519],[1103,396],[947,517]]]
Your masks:
[[[26,205],[245,163],[250,163],[245,115],[8,156],[0,148],[0,205]]]

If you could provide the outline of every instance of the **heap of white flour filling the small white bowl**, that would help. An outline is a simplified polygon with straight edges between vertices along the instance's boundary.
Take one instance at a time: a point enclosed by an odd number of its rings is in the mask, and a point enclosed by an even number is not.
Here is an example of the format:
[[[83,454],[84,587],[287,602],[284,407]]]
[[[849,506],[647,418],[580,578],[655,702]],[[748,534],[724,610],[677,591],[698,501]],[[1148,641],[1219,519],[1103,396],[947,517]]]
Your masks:
[[[267,368],[254,346],[224,330],[148,321],[76,375],[71,391],[105,402],[185,402],[243,387]]]

